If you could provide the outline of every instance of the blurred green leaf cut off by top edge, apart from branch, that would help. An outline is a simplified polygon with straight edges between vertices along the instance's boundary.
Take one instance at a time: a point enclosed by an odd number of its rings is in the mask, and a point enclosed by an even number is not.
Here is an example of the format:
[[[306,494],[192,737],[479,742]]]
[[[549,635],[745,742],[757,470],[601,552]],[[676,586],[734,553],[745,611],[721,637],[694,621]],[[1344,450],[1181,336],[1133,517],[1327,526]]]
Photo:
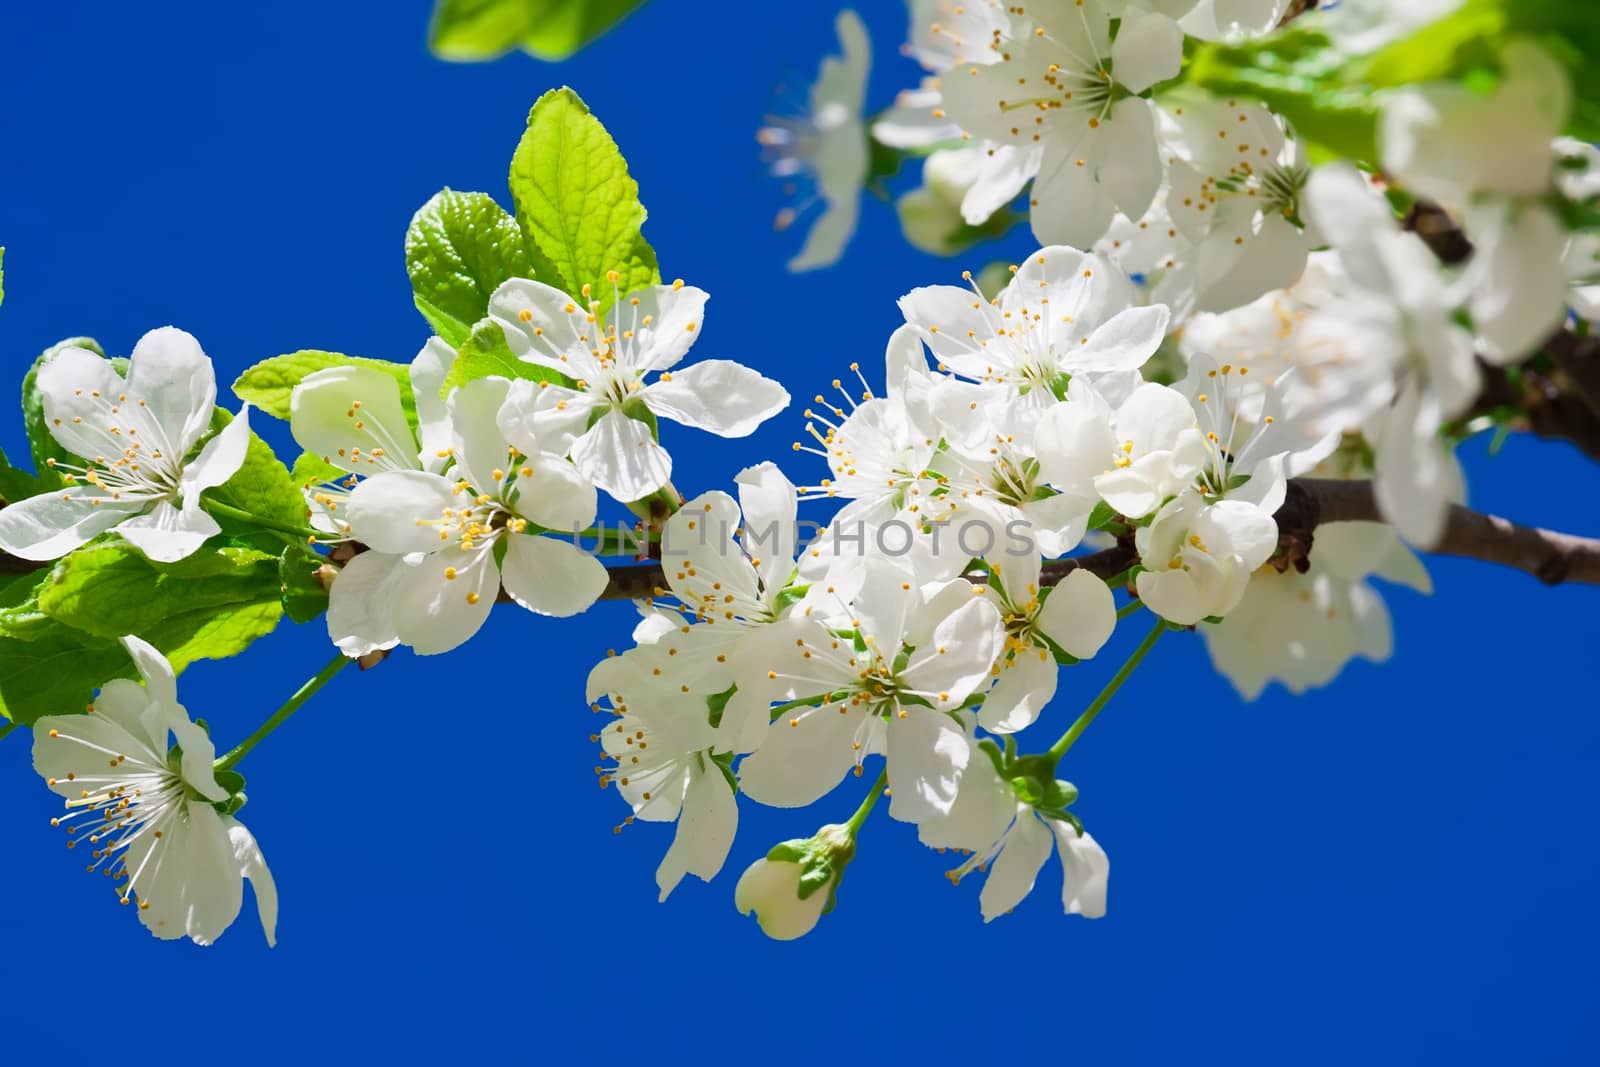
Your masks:
[[[496,59],[523,48],[566,59],[645,0],[438,0],[427,43],[440,59]]]

